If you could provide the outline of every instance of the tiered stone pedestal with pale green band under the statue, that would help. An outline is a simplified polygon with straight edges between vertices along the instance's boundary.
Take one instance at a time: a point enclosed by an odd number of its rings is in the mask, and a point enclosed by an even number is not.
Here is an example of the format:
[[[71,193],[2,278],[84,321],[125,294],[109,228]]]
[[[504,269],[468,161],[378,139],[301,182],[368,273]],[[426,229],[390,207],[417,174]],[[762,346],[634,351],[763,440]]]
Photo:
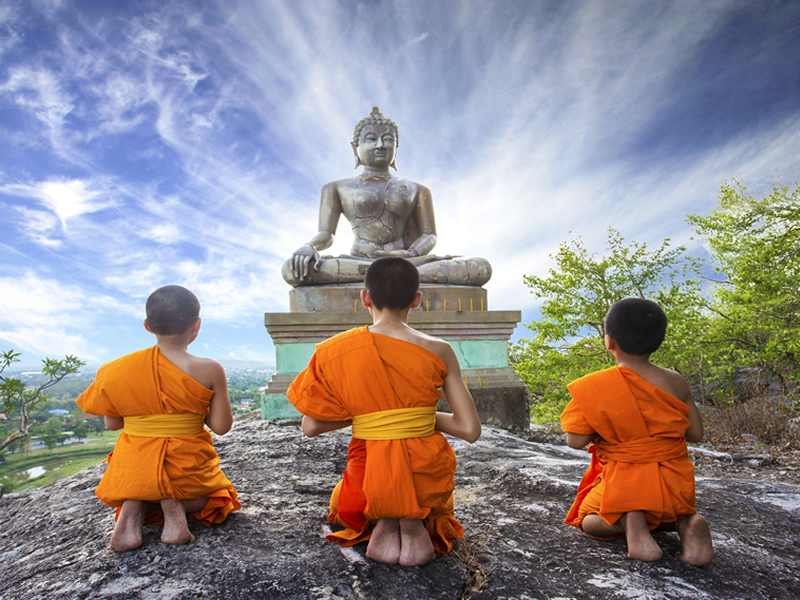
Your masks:
[[[298,287],[289,313],[267,313],[275,344],[276,373],[261,397],[263,419],[297,417],[286,391],[329,337],[372,323],[359,301],[363,285]],[[421,306],[411,311],[414,329],[447,340],[455,350],[481,422],[510,430],[530,427],[528,388],[508,366],[508,340],[520,311],[490,311],[486,290],[469,286],[422,286]],[[326,310],[326,307],[328,310]],[[448,410],[444,399],[440,410]]]

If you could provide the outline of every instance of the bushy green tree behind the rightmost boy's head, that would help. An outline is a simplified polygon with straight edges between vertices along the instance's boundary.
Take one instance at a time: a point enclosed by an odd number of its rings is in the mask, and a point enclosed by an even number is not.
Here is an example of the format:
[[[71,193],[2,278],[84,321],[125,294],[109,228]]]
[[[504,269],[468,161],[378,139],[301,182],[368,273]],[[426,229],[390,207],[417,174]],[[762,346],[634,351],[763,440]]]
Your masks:
[[[658,302],[669,319],[667,339],[653,356],[659,365],[698,372],[703,349],[695,343],[708,328],[699,283],[702,262],[687,258],[684,247],[665,240],[649,251],[625,243],[608,229],[606,253],[590,254],[581,238],[564,242],[551,258],[556,268],[546,278],[526,275],[531,292],[544,300],[541,318],[527,327],[533,337],[512,345],[510,358],[536,400],[534,420],[553,422],[569,400],[566,384],[613,365],[605,351],[603,321],[609,306],[628,297]]]

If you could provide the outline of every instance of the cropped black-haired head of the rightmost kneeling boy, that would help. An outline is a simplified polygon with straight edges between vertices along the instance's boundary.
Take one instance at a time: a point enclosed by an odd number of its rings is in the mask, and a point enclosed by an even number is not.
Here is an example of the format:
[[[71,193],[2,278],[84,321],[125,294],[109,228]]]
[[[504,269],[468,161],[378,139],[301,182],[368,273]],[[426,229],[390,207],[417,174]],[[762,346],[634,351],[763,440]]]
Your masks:
[[[661,307],[644,298],[625,298],[606,314],[606,334],[628,354],[652,354],[664,341],[667,316]]]

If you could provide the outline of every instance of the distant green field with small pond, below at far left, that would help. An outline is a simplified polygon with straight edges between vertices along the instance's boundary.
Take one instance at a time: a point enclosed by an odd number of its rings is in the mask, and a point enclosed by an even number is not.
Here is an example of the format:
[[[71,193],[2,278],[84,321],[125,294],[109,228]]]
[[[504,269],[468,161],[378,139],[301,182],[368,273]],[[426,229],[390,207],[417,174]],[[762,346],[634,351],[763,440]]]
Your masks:
[[[4,454],[6,460],[0,463],[0,483],[6,486],[8,493],[74,475],[102,461],[114,449],[121,431],[104,431],[99,439],[57,446],[52,451],[42,448]]]

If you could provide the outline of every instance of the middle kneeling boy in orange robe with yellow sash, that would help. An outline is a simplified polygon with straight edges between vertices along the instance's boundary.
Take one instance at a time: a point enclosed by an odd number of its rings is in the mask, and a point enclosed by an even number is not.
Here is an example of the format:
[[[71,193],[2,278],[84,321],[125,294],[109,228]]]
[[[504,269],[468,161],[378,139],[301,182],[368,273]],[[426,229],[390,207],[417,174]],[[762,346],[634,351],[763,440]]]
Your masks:
[[[328,516],[344,529],[328,539],[369,540],[372,560],[423,565],[463,537],[453,514],[456,458],[440,432],[472,443],[481,423],[450,344],[406,322],[422,301],[416,267],[378,259],[364,285],[373,324],[317,345],[288,397],[309,437],[353,426]],[[436,412],[440,390],[452,414]]]

